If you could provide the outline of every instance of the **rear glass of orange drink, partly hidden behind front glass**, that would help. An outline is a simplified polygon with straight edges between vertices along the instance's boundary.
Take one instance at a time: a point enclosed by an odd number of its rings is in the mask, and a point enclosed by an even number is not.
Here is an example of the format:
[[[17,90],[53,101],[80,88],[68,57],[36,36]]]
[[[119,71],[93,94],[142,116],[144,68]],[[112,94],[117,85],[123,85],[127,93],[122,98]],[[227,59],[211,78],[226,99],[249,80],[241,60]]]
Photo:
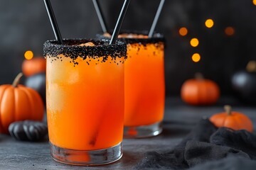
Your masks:
[[[124,31],[119,40],[127,43],[128,57],[124,64],[124,137],[159,135],[165,101],[164,37]]]

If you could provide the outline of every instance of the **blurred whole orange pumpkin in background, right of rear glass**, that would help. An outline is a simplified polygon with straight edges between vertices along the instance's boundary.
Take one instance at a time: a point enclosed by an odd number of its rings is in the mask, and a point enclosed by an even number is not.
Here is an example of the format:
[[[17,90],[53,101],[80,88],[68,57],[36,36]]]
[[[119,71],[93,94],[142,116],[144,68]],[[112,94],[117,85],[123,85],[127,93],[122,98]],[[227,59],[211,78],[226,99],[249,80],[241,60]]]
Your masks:
[[[196,79],[188,79],[181,86],[181,98],[191,105],[210,105],[218,101],[220,89],[210,80],[197,73]]]

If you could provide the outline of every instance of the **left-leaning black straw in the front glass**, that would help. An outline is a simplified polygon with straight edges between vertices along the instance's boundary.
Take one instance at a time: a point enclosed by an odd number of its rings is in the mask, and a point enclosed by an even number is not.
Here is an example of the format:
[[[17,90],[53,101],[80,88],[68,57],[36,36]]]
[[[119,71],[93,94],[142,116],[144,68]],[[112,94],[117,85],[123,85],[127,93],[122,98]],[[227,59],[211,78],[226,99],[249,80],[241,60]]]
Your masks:
[[[54,13],[53,13],[53,8],[50,5],[50,0],[43,0],[45,5],[46,5],[46,11],[48,13],[49,19],[50,19],[50,24],[53,28],[53,33],[55,35],[56,40],[58,40],[58,42],[60,42],[60,44],[63,44],[63,40],[62,37],[60,35],[60,30],[58,28],[58,23],[55,19]]]

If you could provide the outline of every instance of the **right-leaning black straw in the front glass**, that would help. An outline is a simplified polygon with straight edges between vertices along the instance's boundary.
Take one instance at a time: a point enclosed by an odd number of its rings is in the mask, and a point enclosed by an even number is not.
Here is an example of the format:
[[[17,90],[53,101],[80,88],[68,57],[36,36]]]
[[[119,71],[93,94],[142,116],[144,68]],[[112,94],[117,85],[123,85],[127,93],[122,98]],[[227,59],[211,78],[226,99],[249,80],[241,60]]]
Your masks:
[[[115,28],[114,28],[114,32],[113,32],[113,34],[112,34],[112,38],[111,38],[111,40],[110,40],[110,45],[112,45],[113,43],[115,43],[116,40],[117,40],[117,36],[118,36],[119,31],[120,31],[120,28],[121,28],[121,26],[122,26],[122,22],[124,21],[124,16],[125,16],[125,13],[126,13],[126,11],[127,11],[128,6],[129,6],[129,2],[130,2],[130,0],[124,0],[124,4],[123,4],[123,6],[122,6],[122,10],[121,10],[121,12],[120,12],[120,14],[119,14],[119,17],[118,17],[118,19],[117,19],[116,26],[115,26]]]

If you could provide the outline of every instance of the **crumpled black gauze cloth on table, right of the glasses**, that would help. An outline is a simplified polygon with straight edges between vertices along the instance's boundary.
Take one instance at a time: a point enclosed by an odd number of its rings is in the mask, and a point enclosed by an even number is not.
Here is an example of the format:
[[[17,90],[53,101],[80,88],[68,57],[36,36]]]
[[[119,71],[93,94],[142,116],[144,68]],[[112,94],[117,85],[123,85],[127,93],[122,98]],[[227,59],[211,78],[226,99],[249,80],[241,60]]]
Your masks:
[[[255,143],[256,136],[246,130],[216,128],[210,120],[201,119],[174,149],[146,152],[134,169],[189,169],[226,157],[256,159]]]

